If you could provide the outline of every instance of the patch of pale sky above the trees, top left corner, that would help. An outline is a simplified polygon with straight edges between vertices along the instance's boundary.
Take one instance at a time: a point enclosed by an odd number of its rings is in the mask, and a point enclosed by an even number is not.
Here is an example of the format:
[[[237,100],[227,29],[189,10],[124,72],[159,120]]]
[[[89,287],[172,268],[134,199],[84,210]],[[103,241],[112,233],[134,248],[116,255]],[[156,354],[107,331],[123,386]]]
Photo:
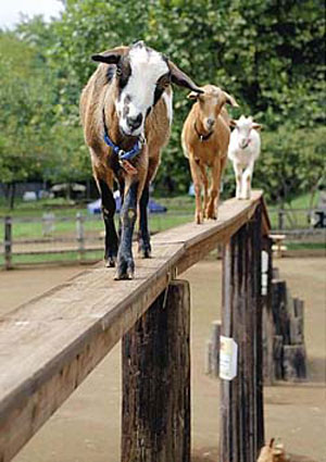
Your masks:
[[[62,9],[59,0],[0,0],[0,27],[12,28],[20,21],[20,13],[28,16],[43,14],[46,20],[50,20]]]

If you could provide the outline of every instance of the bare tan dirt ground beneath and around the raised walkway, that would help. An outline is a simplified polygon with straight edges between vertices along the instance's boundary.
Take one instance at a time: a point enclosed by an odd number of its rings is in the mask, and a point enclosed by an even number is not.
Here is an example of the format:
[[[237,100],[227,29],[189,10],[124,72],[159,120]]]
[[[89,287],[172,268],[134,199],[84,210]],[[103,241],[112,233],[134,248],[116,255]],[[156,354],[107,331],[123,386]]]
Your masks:
[[[326,262],[275,262],[292,296],[305,301],[310,382],[266,387],[266,438],[281,437],[294,462],[326,462]],[[83,269],[0,272],[0,314],[64,282]],[[204,261],[184,278],[191,286],[192,462],[216,462],[218,380],[203,373],[211,322],[220,319],[221,262]],[[120,346],[26,445],[14,462],[118,462],[121,405]],[[171,461],[172,462],[172,461]]]

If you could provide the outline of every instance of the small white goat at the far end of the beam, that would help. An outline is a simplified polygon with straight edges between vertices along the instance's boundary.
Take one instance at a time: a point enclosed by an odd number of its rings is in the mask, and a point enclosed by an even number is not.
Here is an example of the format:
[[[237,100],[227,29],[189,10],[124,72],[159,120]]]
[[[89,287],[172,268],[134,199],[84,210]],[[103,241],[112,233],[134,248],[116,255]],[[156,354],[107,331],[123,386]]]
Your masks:
[[[261,152],[260,124],[252,117],[241,115],[238,121],[231,120],[230,126],[235,127],[229,140],[228,159],[233,161],[236,176],[236,198],[250,199],[251,179],[254,162]]]

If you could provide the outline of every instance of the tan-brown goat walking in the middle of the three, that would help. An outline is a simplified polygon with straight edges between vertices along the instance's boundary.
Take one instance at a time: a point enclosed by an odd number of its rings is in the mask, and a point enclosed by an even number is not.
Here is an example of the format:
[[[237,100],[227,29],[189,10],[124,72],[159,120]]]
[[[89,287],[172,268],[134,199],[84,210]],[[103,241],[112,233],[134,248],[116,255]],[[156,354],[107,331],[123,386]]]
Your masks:
[[[181,134],[184,154],[189,159],[196,195],[195,221],[203,217],[216,220],[222,174],[227,159],[229,142],[229,117],[225,109],[228,103],[238,107],[236,100],[214,85],[201,87],[203,92],[191,91],[189,99],[196,100]],[[206,167],[212,170],[211,190]],[[203,185],[203,209],[201,188]]]

